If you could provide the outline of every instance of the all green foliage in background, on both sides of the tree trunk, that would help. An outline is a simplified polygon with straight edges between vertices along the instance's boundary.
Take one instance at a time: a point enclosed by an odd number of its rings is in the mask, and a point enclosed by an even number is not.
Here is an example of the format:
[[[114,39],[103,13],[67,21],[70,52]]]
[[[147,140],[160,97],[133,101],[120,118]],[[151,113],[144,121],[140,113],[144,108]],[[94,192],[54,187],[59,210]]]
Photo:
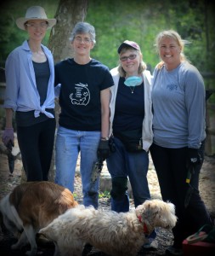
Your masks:
[[[54,17],[59,0],[8,0],[0,9],[0,61],[22,44],[26,32],[20,31],[14,20],[25,15],[31,5],[41,5],[49,17]],[[92,56],[108,67],[118,63],[117,48],[126,39],[136,41],[143,52],[144,61],[151,70],[159,61],[154,42],[156,34],[175,29],[191,44],[185,55],[201,72],[215,72],[215,15],[214,4],[209,1],[181,0],[89,0],[85,21],[96,29],[97,43]],[[43,44],[48,44],[49,33]]]

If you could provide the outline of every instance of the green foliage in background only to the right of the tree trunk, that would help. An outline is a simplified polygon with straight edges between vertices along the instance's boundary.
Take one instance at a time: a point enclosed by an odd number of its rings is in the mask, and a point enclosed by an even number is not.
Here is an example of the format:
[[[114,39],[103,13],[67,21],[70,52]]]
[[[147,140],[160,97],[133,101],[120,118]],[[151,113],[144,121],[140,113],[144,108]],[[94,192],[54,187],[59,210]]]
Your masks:
[[[93,57],[110,68],[116,67],[116,50],[128,39],[140,45],[144,61],[153,68],[159,61],[154,48],[156,34],[174,29],[190,41],[185,49],[190,61],[201,71],[214,72],[213,11],[214,5],[205,1],[90,0],[86,21],[92,23],[97,32]]]

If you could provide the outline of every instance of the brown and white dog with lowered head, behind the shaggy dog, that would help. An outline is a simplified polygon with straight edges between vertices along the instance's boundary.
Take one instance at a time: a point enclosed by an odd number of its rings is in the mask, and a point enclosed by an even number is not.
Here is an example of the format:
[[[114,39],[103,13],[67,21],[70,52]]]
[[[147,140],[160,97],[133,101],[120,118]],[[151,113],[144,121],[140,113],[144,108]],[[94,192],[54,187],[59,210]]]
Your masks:
[[[18,239],[12,249],[30,243],[31,251],[26,254],[32,256],[37,254],[37,231],[77,205],[71,191],[55,183],[21,183],[0,201],[1,227]]]

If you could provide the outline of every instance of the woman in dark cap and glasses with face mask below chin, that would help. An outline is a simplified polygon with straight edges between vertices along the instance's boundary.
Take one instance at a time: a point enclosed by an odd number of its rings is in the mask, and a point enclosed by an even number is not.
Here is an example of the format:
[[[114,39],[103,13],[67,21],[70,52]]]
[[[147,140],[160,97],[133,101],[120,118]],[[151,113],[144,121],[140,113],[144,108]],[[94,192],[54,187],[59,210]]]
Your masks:
[[[128,212],[127,177],[135,207],[150,199],[147,172],[153,138],[151,74],[146,70],[139,44],[126,40],[118,54],[119,66],[110,71],[115,83],[110,89],[110,136],[115,152],[107,158],[107,167],[112,181],[111,209]],[[154,231],[144,247],[157,247],[155,237]]]

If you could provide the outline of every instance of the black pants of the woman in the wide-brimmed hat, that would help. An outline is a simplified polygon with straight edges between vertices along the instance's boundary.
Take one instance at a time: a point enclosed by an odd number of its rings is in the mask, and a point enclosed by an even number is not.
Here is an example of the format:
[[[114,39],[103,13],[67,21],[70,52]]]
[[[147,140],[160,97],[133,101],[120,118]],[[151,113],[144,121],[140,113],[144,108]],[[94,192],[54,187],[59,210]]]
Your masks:
[[[48,180],[55,126],[55,119],[37,125],[17,126],[17,139],[27,181]]]

